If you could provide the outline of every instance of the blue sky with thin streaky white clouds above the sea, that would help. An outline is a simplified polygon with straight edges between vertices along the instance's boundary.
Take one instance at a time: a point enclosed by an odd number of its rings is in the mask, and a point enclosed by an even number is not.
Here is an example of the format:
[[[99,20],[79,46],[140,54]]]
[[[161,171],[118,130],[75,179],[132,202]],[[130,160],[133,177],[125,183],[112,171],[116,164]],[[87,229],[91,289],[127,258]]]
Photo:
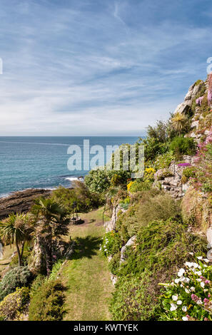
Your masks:
[[[211,0],[1,0],[0,136],[143,135],[212,56]]]

